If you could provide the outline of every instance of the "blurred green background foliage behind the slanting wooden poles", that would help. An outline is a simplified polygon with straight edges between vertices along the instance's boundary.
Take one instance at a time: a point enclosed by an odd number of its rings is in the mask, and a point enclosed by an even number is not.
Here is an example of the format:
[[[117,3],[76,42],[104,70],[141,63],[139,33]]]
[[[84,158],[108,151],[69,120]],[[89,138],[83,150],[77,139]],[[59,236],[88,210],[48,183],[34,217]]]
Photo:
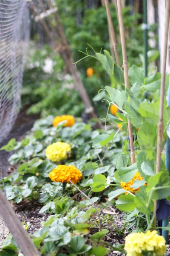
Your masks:
[[[110,51],[106,9],[100,1],[56,0],[56,4],[75,62],[84,57],[82,52],[85,52],[88,44],[96,52],[100,52],[101,48]],[[112,3],[110,9],[121,59],[119,26]],[[128,5],[123,8],[123,17],[129,66],[142,66],[142,14],[135,13],[133,6]],[[48,114],[81,116],[84,105],[62,58],[52,49],[40,23],[34,20],[31,23],[31,40],[23,76],[23,108],[27,109],[27,113],[40,113],[43,117]],[[155,31],[156,26],[151,30]],[[94,55],[91,48],[88,49]],[[87,76],[88,67],[94,70],[92,76]],[[77,68],[96,113],[103,117],[108,106],[101,101],[93,101],[93,98],[101,88],[111,84],[109,77],[95,58],[85,58],[77,64]]]

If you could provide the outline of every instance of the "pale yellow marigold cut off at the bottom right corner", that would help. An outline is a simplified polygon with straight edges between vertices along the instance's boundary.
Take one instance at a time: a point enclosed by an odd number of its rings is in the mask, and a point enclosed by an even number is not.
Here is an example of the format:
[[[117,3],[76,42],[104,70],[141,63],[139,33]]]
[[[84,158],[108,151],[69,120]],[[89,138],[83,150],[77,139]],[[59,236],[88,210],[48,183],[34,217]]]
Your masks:
[[[127,256],[144,256],[143,252],[163,256],[166,252],[165,239],[159,236],[156,230],[147,233],[132,233],[125,238]]]

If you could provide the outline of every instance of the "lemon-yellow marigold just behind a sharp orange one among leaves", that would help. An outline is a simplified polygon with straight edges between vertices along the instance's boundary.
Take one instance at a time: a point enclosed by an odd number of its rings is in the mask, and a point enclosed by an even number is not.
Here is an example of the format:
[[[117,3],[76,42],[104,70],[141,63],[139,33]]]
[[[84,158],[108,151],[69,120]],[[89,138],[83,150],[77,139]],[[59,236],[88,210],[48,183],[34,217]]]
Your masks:
[[[68,143],[59,141],[49,145],[46,148],[45,154],[52,162],[59,162],[70,157],[71,147]]]

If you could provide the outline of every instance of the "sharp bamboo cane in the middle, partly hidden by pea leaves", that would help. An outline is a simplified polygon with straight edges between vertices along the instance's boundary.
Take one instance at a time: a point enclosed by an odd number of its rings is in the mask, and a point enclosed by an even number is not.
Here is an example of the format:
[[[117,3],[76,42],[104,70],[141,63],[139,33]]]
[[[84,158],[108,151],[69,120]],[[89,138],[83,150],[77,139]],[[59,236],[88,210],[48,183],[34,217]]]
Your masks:
[[[120,24],[120,37],[121,37],[121,44],[122,44],[125,87],[129,88],[128,64],[127,64],[126,43],[125,43],[125,31],[124,31],[124,25],[123,25],[122,5],[121,5],[120,0],[117,0],[117,8],[118,8],[118,18],[119,18],[119,24]],[[133,163],[135,163],[135,151],[134,151],[134,145],[133,145],[132,125],[131,125],[129,119],[127,119],[127,128],[128,128],[129,141],[130,141],[130,158],[131,158],[131,163],[133,164]]]

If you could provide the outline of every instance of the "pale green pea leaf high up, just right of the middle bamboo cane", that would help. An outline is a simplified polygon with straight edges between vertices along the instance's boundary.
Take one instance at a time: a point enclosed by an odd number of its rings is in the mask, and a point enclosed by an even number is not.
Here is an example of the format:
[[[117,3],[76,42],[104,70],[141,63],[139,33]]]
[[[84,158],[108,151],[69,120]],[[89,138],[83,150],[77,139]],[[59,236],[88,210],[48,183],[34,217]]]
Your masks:
[[[129,81],[132,85],[137,83],[139,86],[144,83],[144,70],[142,67],[132,65],[132,67],[129,68]]]

